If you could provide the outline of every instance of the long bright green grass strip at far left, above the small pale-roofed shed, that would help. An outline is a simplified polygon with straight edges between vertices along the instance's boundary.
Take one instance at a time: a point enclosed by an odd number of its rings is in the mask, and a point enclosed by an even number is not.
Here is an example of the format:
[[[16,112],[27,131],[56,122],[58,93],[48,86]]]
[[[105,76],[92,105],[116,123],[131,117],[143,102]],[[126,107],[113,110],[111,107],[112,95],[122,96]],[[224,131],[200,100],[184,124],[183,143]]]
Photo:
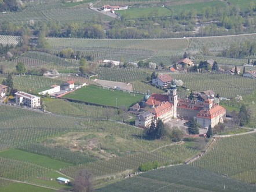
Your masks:
[[[20,161],[27,161],[29,163],[34,163],[36,165],[41,165],[43,167],[52,168],[56,170],[72,165],[70,163],[54,160],[46,156],[41,156],[34,153],[28,153],[28,152],[24,152],[22,150],[17,150],[17,149],[9,149],[9,150],[2,151],[0,152],[0,157],[12,158],[14,160],[20,160]]]

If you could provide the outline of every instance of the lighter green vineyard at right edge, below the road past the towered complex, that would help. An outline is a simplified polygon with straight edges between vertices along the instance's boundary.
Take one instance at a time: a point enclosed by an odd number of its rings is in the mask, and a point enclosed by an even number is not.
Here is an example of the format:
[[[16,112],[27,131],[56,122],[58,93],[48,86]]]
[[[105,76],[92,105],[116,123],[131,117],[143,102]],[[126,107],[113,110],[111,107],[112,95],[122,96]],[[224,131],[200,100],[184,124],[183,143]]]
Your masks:
[[[247,183],[256,183],[256,134],[217,139],[202,158],[192,163],[195,167],[225,175]]]

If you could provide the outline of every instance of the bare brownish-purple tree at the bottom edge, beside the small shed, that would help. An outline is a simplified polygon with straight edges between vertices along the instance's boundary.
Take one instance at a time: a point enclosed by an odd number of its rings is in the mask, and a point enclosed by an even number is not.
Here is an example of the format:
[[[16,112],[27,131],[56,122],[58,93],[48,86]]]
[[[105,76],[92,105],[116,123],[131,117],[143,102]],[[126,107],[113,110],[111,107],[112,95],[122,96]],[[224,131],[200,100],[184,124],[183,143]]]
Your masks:
[[[75,192],[92,192],[93,189],[93,174],[90,171],[82,169],[79,171],[78,176],[76,176],[74,182]]]

